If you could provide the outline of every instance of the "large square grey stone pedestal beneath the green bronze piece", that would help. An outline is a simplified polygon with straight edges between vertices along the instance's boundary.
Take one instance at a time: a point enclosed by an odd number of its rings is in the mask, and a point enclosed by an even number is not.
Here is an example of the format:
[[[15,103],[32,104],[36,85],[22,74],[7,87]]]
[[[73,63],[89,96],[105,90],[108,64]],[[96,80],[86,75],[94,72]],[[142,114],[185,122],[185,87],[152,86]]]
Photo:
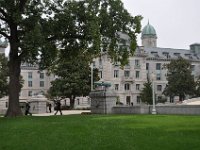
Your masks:
[[[111,114],[116,105],[116,93],[112,90],[96,90],[90,92],[91,112],[94,114]]]

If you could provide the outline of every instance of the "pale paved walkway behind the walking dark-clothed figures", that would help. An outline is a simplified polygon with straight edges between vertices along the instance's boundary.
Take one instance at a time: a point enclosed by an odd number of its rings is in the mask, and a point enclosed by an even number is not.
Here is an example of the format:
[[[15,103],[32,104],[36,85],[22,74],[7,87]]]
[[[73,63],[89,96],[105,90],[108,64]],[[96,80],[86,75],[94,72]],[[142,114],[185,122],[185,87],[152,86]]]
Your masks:
[[[82,112],[91,112],[90,110],[63,110],[62,113],[63,115],[72,115],[72,114],[81,114]],[[55,113],[42,113],[42,114],[33,114],[33,116],[53,116]],[[57,115],[60,115],[60,112],[57,113]]]

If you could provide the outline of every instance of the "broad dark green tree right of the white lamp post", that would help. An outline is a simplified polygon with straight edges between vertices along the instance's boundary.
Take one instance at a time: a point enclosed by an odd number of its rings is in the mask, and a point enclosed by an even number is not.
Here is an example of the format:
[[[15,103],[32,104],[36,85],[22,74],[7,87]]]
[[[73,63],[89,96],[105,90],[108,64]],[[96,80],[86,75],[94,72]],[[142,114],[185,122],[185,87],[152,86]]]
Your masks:
[[[194,94],[195,82],[188,60],[183,58],[172,60],[165,67],[168,69],[168,84],[163,91],[166,96],[179,96],[179,100],[183,101],[186,95]]]

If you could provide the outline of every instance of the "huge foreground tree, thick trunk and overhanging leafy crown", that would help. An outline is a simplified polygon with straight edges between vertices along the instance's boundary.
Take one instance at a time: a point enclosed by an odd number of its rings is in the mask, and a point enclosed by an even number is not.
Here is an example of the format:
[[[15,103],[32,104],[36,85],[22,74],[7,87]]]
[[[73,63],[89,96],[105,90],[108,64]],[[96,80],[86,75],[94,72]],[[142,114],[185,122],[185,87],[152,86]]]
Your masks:
[[[80,53],[93,57],[106,50],[114,61],[127,63],[134,54],[141,16],[132,17],[120,0],[1,0],[0,35],[10,43],[9,106],[6,116],[22,115],[19,107],[21,62],[51,65]],[[120,48],[119,33],[130,46]],[[49,68],[51,70],[52,66]]]

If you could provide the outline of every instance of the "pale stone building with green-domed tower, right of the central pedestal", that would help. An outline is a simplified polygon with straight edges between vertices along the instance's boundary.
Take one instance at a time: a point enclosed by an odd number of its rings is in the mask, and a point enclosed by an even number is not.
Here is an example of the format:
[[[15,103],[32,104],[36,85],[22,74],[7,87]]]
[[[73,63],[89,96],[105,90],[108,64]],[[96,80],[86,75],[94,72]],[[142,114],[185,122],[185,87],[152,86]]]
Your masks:
[[[133,57],[129,58],[129,64],[123,69],[118,64],[113,64],[106,53],[95,59],[94,65],[99,69],[99,77],[102,81],[110,82],[111,88],[118,95],[118,100],[124,105],[140,105],[140,92],[147,78],[155,75],[154,89],[156,100],[163,97],[163,90],[167,84],[167,70],[164,64],[172,59],[182,57],[192,64],[192,74],[195,78],[200,75],[200,44],[190,45],[190,49],[173,49],[157,47],[157,34],[152,25],[148,24],[142,30],[142,46],[135,50]],[[128,40],[128,39],[124,39]],[[167,98],[169,102],[175,102],[176,98]]]

